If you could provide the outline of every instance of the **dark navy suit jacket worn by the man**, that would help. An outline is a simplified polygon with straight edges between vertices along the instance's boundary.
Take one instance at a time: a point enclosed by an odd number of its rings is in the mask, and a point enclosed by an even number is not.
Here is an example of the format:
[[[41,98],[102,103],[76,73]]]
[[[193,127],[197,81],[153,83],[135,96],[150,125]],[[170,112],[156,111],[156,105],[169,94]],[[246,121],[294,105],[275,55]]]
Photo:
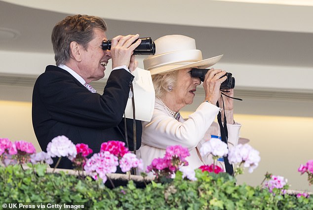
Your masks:
[[[123,113],[134,76],[126,70],[113,70],[103,95],[89,92],[69,72],[47,66],[34,86],[32,119],[39,145],[43,151],[54,138],[64,135],[74,144],[85,143],[94,153],[102,142],[125,142]],[[129,149],[133,150],[133,120],[126,119]],[[139,149],[142,125],[136,121]],[[55,161],[54,161],[55,162]],[[72,168],[62,158],[58,168]]]

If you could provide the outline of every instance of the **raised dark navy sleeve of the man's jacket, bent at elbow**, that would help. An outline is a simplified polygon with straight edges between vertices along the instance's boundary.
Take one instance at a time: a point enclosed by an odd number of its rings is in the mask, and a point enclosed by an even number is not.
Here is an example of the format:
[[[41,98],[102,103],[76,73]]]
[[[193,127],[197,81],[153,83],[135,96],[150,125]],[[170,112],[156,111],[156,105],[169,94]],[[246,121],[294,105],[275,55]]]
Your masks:
[[[33,102],[40,100],[54,119],[75,126],[107,129],[117,126],[125,110],[133,75],[113,70],[103,95],[89,92],[73,76],[45,72],[34,86]],[[35,99],[34,97],[39,97]]]

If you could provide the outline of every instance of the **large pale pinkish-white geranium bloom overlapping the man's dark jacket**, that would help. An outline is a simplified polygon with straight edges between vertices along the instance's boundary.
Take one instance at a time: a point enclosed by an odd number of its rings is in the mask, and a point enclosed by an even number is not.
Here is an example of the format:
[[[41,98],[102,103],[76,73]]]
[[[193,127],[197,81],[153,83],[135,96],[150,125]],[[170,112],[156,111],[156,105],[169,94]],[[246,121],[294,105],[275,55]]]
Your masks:
[[[77,149],[75,144],[67,137],[58,136],[48,143],[47,153],[50,157],[76,157]]]

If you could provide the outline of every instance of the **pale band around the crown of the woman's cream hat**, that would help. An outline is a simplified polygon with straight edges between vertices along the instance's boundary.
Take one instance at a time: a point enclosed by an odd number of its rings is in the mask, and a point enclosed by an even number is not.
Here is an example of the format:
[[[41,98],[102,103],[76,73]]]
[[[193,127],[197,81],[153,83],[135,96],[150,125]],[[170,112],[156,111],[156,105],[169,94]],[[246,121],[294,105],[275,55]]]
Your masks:
[[[144,60],[144,67],[146,70],[151,70],[160,66],[186,64],[201,60],[202,53],[200,50],[181,50],[146,58]]]

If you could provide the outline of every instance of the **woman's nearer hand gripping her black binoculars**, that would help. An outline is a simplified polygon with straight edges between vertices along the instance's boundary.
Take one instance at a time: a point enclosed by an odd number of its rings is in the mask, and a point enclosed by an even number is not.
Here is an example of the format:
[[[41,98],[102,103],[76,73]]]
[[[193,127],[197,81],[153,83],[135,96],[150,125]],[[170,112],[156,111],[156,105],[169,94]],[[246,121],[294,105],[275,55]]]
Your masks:
[[[205,100],[209,101],[211,104],[216,105],[216,102],[221,98],[220,87],[222,82],[227,79],[226,76],[223,76],[225,74],[226,71],[215,70],[213,68],[208,70],[205,74],[202,85],[205,91]]]

